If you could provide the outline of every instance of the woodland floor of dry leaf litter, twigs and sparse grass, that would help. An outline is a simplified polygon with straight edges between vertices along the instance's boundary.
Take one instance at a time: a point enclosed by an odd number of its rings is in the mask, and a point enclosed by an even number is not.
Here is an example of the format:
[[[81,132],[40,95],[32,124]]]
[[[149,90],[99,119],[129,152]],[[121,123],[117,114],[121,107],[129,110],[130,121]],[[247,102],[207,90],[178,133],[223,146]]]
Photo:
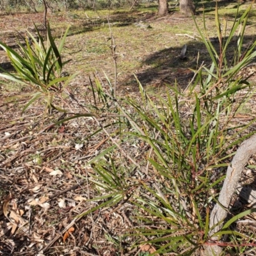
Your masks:
[[[236,5],[227,3],[220,6],[228,22],[234,19],[234,12],[228,12]],[[205,3],[207,30],[214,40],[216,29],[212,8],[210,3]],[[166,17],[157,17],[155,9],[152,10],[111,11],[109,14],[117,45],[118,97],[140,97],[134,74],[147,91],[161,92],[165,84],[174,84],[175,81],[180,88],[186,88],[194,74],[191,69],[196,69],[203,61],[205,65],[211,64],[204,45],[196,40],[199,34],[191,18],[174,11]],[[108,13],[52,13],[49,21],[57,36],[65,31],[68,24],[71,25],[63,52],[65,60],[71,61],[65,71],[72,74],[78,70],[80,74],[70,83],[70,90],[78,102],[93,104],[89,76],[93,81],[93,72],[97,70],[106,83],[103,71],[112,82],[115,75],[109,49]],[[202,28],[202,7],[198,8],[196,21]],[[0,13],[0,40],[14,46],[17,37],[26,36],[26,29],[33,33],[33,22],[44,33],[43,13]],[[252,15],[246,29],[244,48],[254,42],[255,26],[256,19]],[[181,60],[180,51],[184,44],[188,47],[187,58]],[[0,65],[12,69],[4,51],[0,51]],[[254,81],[255,76],[252,77]],[[21,115],[26,99],[6,99],[26,92],[30,89],[0,84],[2,255],[110,256],[152,252],[150,248],[138,247],[137,237],[124,236],[124,230],[129,233],[131,228],[139,227],[136,216],[145,214],[141,209],[134,209],[124,202],[116,208],[98,209],[83,216],[98,204],[88,201],[98,194],[90,182],[92,167],[86,164],[111,145],[106,134],[102,132],[100,136],[91,136],[99,129],[92,118],[70,120],[55,127],[52,124],[63,116],[56,114],[45,118],[40,102]],[[72,111],[84,111],[76,102],[70,100],[69,103]],[[241,116],[242,121],[255,115],[254,103],[252,99],[251,113]],[[107,118],[102,115],[99,121],[102,125],[110,124],[115,122],[115,116]],[[109,132],[113,132],[111,128]],[[125,147],[129,154],[143,163],[147,148],[140,141]],[[140,173],[132,173],[131,177],[145,179],[140,177]],[[67,230],[68,237],[65,235]]]

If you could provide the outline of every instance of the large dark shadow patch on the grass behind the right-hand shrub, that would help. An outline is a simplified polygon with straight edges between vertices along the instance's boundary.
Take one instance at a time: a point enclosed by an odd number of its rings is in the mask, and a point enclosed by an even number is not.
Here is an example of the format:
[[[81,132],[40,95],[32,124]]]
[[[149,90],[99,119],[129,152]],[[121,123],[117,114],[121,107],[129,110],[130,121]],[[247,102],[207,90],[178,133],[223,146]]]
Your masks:
[[[255,42],[256,36],[244,36],[243,52]],[[219,53],[220,43],[218,38],[211,38],[212,45]],[[237,47],[237,38],[233,38],[227,49],[227,61],[230,63],[234,58]],[[200,65],[211,66],[211,58],[205,45],[202,42],[191,41],[187,44],[186,58],[180,58],[180,47],[163,49],[147,56],[141,63],[141,71],[136,74],[143,86],[159,86],[162,84],[175,84],[180,88],[186,88],[193,79],[196,70]],[[134,77],[129,81],[134,82]]]

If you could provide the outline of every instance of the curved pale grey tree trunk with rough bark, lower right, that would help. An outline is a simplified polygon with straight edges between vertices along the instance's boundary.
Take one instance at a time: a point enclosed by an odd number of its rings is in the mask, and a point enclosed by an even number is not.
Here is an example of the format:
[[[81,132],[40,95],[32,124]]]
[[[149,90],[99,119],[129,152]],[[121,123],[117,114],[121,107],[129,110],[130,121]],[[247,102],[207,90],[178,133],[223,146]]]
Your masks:
[[[241,173],[243,172],[244,166],[248,163],[249,158],[256,154],[256,134],[248,140],[244,141],[238,148],[236,155],[234,156],[230,166],[228,166],[227,176],[224,180],[223,187],[220,192],[218,201],[220,204],[216,204],[211,212],[210,217],[210,228],[221,221],[221,225],[217,225],[212,228],[209,232],[209,236],[214,235],[223,226],[223,221],[227,217],[227,211],[230,207],[230,202],[234,192],[236,191]],[[222,205],[223,207],[221,207]],[[224,208],[224,209],[223,209]],[[211,237],[212,240],[218,239],[218,237]],[[220,255],[222,249],[220,246],[206,246],[206,255]]]

